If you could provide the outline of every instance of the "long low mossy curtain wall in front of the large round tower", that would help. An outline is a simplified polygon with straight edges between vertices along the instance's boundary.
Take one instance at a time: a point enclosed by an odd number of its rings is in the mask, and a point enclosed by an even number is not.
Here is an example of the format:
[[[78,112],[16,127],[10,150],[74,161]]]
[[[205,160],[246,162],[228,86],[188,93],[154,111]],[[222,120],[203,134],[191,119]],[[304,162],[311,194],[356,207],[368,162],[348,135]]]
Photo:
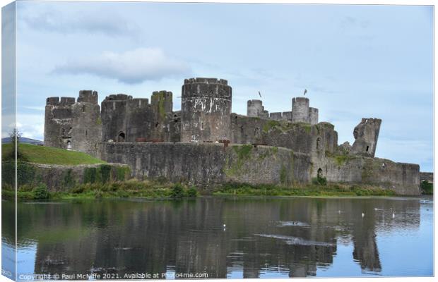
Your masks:
[[[227,182],[287,185],[310,180],[309,157],[278,147],[193,142],[102,142],[100,146],[102,159],[129,164],[138,179],[164,177],[201,186]]]

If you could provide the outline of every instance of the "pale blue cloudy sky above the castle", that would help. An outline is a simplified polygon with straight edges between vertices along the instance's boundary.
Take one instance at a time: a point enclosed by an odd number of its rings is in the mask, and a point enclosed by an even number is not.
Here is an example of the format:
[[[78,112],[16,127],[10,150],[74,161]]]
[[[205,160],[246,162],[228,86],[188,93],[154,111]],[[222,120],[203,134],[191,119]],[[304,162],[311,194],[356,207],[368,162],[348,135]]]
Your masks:
[[[381,118],[377,157],[432,171],[432,40],[431,6],[20,1],[18,126],[42,140],[49,96],[167,90],[178,110],[184,78],[224,78],[239,114],[307,89],[340,144]]]

